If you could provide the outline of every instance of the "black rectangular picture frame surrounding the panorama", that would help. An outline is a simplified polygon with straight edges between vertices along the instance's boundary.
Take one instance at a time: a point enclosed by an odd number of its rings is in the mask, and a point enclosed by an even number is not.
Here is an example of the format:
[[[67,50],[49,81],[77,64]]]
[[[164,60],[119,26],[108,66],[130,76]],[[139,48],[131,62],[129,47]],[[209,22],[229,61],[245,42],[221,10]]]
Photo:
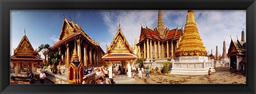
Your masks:
[[[10,84],[10,10],[246,10],[246,84]],[[255,93],[255,0],[1,0],[1,93]]]

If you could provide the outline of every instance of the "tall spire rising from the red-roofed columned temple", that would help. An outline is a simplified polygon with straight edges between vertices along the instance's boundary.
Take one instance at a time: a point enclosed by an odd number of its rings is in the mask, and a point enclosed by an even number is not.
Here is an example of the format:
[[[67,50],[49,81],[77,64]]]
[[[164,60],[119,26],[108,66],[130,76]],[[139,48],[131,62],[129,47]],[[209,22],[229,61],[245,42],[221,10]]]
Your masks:
[[[164,28],[164,21],[163,21],[163,13],[161,10],[158,11],[157,30],[159,31],[160,37],[163,38],[165,28]]]

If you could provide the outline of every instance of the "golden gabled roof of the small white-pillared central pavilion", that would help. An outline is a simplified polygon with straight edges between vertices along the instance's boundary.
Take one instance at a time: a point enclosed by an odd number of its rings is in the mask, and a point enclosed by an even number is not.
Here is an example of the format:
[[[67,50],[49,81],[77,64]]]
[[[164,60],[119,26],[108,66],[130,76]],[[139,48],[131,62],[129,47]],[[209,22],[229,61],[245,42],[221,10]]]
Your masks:
[[[137,59],[137,56],[133,54],[132,48],[124,37],[124,34],[120,28],[120,23],[114,39],[112,40],[110,46],[107,46],[106,48],[107,53],[102,56],[102,59]]]

